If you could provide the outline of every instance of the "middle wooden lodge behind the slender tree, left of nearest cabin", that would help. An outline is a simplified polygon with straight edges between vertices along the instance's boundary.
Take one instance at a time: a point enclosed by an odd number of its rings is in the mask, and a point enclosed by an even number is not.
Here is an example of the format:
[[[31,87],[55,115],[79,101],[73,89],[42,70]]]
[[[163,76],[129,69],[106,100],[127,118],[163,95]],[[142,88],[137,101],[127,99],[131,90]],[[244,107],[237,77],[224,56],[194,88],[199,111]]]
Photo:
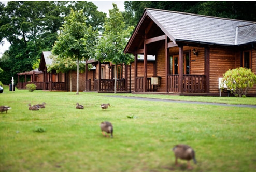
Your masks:
[[[139,74],[143,76],[143,60],[144,57],[138,60]],[[153,74],[154,59],[148,57],[149,71]],[[86,73],[86,91],[96,91],[96,92],[114,92],[115,83],[115,73],[114,67],[111,62],[101,63],[96,60],[89,60],[86,64],[92,64],[95,68],[94,73]],[[118,93],[131,93],[134,92],[134,63],[130,65],[119,64],[117,65],[117,92]],[[154,89],[153,86],[149,90]]]

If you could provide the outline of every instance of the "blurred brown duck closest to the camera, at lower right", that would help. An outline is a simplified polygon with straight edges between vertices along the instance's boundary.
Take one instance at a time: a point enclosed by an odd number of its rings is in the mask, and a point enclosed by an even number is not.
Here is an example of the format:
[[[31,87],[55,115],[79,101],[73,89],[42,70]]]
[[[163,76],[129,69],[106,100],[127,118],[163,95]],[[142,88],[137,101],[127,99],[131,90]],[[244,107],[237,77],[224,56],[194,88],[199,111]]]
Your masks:
[[[178,165],[178,159],[182,159],[182,160],[187,160],[187,168],[188,169],[193,169],[193,167],[190,165],[190,160],[193,159],[194,164],[196,164],[196,159],[195,159],[195,151],[188,145],[183,145],[183,144],[179,144],[176,145],[173,148],[174,151],[174,155],[175,155],[175,165]]]

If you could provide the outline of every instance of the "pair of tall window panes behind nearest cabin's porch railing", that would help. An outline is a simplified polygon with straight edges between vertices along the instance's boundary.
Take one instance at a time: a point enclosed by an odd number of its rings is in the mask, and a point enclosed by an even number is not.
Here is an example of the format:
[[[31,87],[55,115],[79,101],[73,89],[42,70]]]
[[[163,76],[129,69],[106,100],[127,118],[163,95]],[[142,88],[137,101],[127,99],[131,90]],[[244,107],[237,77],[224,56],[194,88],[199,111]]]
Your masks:
[[[175,75],[179,73],[179,55],[170,56],[170,75]],[[186,66],[186,67],[184,67]],[[184,74],[189,74],[190,72],[190,57],[189,53],[184,53],[183,59],[183,69]]]

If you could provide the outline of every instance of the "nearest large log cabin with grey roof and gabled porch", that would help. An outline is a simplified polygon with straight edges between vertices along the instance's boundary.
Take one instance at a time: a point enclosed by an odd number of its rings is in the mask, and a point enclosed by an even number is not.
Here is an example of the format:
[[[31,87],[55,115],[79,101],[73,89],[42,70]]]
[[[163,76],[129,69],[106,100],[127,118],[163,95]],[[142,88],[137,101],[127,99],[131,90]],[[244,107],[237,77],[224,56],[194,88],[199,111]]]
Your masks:
[[[256,74],[256,22],[146,8],[124,53],[134,55],[134,93],[148,93],[151,79],[155,93],[217,96],[227,70]],[[155,56],[153,74],[144,59],[139,76],[140,54]]]

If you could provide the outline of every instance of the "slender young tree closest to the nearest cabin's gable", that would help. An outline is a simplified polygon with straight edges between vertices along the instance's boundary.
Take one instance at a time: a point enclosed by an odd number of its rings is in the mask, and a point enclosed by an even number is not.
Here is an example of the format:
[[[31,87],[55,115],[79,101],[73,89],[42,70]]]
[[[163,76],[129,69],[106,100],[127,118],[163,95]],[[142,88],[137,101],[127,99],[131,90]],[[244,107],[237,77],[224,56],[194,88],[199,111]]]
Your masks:
[[[125,22],[122,13],[113,3],[113,9],[109,10],[109,18],[104,23],[103,37],[99,41],[97,59],[115,64],[115,93],[117,92],[117,65],[129,64],[133,58],[131,54],[123,53],[131,31],[134,29],[130,26],[125,30]]]

